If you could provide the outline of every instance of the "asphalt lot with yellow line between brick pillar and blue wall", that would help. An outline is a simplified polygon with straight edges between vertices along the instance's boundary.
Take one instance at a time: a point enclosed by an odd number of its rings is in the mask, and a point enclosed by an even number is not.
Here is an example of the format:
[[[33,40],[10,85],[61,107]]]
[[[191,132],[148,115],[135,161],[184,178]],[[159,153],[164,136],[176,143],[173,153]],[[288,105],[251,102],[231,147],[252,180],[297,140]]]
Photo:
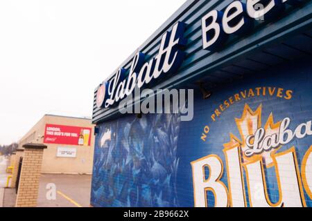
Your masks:
[[[89,207],[91,177],[42,174],[37,207]]]

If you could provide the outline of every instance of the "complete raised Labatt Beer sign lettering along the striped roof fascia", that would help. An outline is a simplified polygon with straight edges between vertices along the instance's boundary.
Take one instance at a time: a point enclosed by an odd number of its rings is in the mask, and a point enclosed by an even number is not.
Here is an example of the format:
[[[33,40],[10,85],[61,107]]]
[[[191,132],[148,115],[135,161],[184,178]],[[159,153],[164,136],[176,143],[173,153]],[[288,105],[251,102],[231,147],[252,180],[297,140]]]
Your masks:
[[[216,50],[229,35],[244,35],[252,29],[252,20],[270,19],[284,10],[285,4],[296,6],[302,0],[247,0],[233,1],[223,12],[211,10],[202,17],[202,48]],[[183,46],[185,24],[177,22],[160,41],[158,54],[146,61],[146,55],[137,52],[130,70],[119,68],[109,81],[98,87],[96,106],[110,108],[132,94],[135,88],[143,88],[154,79],[175,73],[184,59]]]

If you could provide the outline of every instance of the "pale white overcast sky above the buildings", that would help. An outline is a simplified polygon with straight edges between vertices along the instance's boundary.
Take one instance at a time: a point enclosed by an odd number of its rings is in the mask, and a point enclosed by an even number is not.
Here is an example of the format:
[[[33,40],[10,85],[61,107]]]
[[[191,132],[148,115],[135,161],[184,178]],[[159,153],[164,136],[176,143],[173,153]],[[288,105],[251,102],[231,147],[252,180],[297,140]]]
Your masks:
[[[0,144],[44,114],[92,116],[94,88],[184,0],[0,0]]]

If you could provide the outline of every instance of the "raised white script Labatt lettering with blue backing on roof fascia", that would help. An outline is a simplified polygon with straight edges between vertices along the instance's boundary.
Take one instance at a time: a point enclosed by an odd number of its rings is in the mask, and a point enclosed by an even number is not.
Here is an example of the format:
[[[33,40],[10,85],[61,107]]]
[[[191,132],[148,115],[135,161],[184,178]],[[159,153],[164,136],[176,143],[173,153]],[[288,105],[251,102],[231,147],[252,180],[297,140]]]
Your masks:
[[[166,32],[162,36],[158,55],[146,62],[145,55],[137,52],[129,71],[120,68],[110,83],[103,83],[98,88],[96,96],[98,108],[113,106],[132,94],[136,87],[142,88],[153,79],[159,79],[177,70],[184,59],[184,52],[180,50],[186,44],[183,38],[184,28],[184,23],[176,23],[171,32]]]

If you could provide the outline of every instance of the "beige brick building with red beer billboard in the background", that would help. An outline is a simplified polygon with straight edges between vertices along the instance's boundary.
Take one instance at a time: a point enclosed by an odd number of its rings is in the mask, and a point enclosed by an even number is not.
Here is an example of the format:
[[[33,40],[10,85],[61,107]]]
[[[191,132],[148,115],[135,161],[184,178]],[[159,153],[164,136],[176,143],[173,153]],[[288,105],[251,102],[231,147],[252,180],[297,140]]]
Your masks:
[[[44,115],[19,141],[45,144],[42,173],[91,174],[94,125],[91,119]]]

